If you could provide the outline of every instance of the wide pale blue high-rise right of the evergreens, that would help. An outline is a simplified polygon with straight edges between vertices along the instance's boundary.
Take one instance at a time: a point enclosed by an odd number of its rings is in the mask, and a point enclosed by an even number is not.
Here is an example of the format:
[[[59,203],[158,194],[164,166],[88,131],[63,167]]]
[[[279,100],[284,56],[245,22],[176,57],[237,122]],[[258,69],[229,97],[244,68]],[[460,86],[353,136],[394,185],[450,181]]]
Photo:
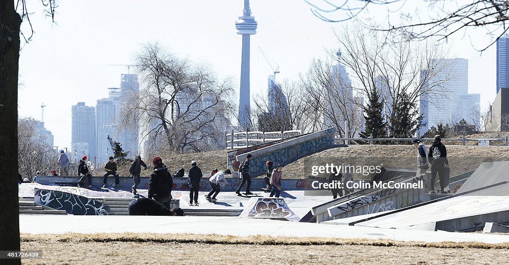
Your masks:
[[[420,96],[419,114],[423,116],[419,135],[426,133],[439,123],[454,125],[462,119],[468,124],[478,124],[480,119],[480,95],[468,94],[468,60],[463,58],[437,59],[433,65],[442,69],[436,73],[426,85],[439,84],[431,89],[431,93]],[[427,70],[421,72],[426,75]],[[444,82],[445,81],[445,82]],[[425,89],[428,89],[425,87]],[[433,93],[433,90],[437,90]],[[440,90],[440,91],[438,91]]]

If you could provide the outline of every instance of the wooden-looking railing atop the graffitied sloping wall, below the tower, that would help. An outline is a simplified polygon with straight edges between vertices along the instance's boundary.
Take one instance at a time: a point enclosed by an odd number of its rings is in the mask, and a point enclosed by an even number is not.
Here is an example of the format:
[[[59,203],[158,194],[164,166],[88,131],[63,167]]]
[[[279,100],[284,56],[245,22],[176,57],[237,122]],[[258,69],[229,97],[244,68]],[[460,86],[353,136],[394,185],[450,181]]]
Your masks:
[[[283,128],[281,128],[281,131],[275,132],[266,132],[264,130],[250,132],[247,129],[244,132],[234,132],[234,130],[232,130],[228,133],[228,131],[225,131],[224,149],[242,149],[257,144],[283,140],[301,134],[303,134],[303,130],[284,131]]]

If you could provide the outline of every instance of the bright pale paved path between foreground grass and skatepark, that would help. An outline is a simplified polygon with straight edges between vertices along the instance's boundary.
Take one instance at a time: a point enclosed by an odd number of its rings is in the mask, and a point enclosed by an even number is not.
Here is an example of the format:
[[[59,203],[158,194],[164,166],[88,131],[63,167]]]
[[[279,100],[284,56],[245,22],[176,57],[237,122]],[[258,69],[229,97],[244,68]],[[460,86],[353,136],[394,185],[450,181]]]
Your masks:
[[[20,215],[21,233],[194,233],[222,235],[271,235],[273,237],[323,237],[383,239],[422,242],[509,242],[509,235],[415,231],[388,228],[326,225],[239,217],[200,216],[56,216]]]

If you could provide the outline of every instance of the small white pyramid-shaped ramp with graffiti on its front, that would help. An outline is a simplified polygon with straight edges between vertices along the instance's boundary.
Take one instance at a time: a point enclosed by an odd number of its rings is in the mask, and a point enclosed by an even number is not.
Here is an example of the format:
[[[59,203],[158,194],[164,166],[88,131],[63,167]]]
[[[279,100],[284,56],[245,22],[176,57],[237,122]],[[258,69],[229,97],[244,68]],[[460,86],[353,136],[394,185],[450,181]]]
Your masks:
[[[250,198],[239,217],[285,219],[295,222],[300,220],[283,198]]]

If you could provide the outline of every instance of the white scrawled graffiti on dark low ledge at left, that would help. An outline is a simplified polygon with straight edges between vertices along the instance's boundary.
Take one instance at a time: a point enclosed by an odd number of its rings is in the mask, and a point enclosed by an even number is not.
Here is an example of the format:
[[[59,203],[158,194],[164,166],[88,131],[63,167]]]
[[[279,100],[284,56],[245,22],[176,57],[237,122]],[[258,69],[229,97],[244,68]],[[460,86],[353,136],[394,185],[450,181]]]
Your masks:
[[[35,202],[73,215],[108,215],[109,205],[72,193],[35,189]]]

